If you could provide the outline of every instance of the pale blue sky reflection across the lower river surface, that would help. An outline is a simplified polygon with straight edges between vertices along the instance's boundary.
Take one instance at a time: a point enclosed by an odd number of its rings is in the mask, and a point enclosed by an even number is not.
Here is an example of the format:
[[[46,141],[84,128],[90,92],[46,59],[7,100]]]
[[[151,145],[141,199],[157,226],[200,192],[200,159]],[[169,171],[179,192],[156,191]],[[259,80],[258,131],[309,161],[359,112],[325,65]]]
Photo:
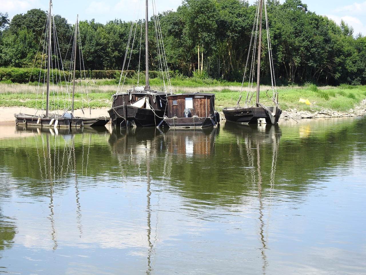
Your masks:
[[[143,268],[151,252],[153,263],[165,265],[169,272],[174,267],[184,273],[188,265],[188,270],[202,268],[219,274],[225,272],[228,263],[236,271],[243,264],[249,265],[249,274],[255,274],[255,266],[263,262],[272,271],[266,274],[292,274],[294,269],[299,274],[322,274],[324,270],[335,271],[333,261],[337,259],[348,274],[355,274],[365,267],[365,251],[362,246],[355,247],[365,234],[360,223],[364,208],[355,193],[365,191],[365,172],[344,172],[331,181],[312,183],[313,188],[300,201],[286,200],[285,193],[276,190],[267,190],[259,197],[253,190],[251,196],[243,196],[227,207],[211,206],[209,202],[192,204],[154,181],[150,183],[152,194],[147,206],[144,177],[129,178],[128,182],[106,177],[93,187],[89,187],[87,178],[80,177],[79,205],[76,187],[61,191],[55,187],[51,216],[50,198],[33,199],[13,190],[4,212],[16,218],[14,247],[24,246],[20,252],[31,253],[20,261],[23,268],[33,262],[47,266],[45,259],[54,251],[73,272],[87,273],[90,268],[98,270],[108,264],[113,274],[123,270],[123,265],[134,271]],[[349,179],[352,184],[347,184]],[[148,209],[152,212],[150,228]],[[265,247],[264,253],[261,247]],[[127,274],[133,274],[132,270]]]

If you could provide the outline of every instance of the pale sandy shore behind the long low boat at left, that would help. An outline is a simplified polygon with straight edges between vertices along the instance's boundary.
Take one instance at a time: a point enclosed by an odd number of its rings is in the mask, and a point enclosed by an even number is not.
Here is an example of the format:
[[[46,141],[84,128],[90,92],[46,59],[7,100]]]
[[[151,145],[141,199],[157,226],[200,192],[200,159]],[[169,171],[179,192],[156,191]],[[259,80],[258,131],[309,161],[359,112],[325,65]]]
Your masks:
[[[26,107],[0,107],[0,124],[11,124],[14,123],[15,125],[15,117],[14,114],[36,114],[36,110]],[[38,111],[38,114],[41,114],[42,111]],[[51,113],[59,113],[62,114],[63,111],[52,111]],[[100,116],[109,116],[108,108],[101,108],[101,109],[85,109],[84,113],[82,110],[75,110],[74,115],[79,117],[100,117]],[[90,114],[91,113],[91,114]]]

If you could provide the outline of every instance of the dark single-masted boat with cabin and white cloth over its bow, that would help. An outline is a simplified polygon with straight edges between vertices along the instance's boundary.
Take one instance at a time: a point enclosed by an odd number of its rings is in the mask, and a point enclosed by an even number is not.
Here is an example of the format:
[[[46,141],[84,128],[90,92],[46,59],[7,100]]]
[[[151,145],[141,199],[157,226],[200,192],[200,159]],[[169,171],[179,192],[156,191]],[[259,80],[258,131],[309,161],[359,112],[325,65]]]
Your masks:
[[[148,43],[148,13],[147,0],[145,11],[145,62],[146,84],[134,87],[127,92],[117,92],[112,96],[112,107],[108,110],[112,123],[117,127],[157,126],[164,117],[167,107],[167,91],[156,91],[149,85],[149,43]],[[163,45],[158,43],[159,46]],[[123,71],[122,71],[123,73]],[[166,78],[169,81],[168,73]],[[121,74],[122,79],[122,74]],[[169,85],[170,86],[170,85]],[[165,83],[164,83],[165,87]],[[170,92],[171,94],[171,92]]]

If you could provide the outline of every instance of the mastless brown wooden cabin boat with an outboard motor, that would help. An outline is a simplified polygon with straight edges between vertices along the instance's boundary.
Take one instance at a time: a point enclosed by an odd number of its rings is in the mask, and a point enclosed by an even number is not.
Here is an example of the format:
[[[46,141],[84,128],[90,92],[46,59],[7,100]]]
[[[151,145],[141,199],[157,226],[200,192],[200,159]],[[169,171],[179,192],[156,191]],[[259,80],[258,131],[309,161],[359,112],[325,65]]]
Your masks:
[[[216,127],[220,115],[215,110],[215,94],[187,92],[167,96],[167,114],[158,127],[205,128]]]

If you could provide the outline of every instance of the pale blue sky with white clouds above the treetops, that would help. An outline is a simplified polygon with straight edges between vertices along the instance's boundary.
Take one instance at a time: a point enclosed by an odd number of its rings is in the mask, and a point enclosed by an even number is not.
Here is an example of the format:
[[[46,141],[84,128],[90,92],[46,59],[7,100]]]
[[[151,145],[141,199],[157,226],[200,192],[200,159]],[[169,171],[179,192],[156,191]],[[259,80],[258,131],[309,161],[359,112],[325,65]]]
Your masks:
[[[253,4],[255,0],[249,0]],[[284,0],[280,0],[281,3]],[[348,3],[346,3],[348,2]],[[129,21],[137,18],[135,13],[136,3],[141,3],[139,16],[143,14],[145,0],[53,0],[53,13],[66,18],[69,23],[79,20],[95,19],[98,23],[107,23],[109,20],[122,19]],[[149,1],[149,5],[151,2]],[[366,36],[366,1],[344,0],[302,0],[307,4],[309,11],[318,15],[326,15],[336,23],[341,19],[354,28],[354,34],[362,33]],[[176,10],[182,0],[156,0],[156,10],[159,12]],[[0,12],[7,12],[11,19],[16,14],[25,14],[32,8],[48,10],[49,0],[1,0]],[[151,14],[151,12],[150,12]]]

